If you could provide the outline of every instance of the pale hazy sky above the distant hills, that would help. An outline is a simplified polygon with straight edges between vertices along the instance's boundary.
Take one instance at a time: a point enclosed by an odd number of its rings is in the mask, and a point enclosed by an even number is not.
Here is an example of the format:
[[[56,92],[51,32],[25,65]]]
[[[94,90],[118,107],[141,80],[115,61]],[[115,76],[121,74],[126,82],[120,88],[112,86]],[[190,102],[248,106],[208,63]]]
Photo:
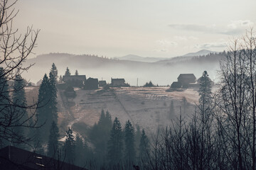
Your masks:
[[[41,30],[36,55],[174,57],[223,51],[256,26],[255,0],[20,0],[14,25]]]

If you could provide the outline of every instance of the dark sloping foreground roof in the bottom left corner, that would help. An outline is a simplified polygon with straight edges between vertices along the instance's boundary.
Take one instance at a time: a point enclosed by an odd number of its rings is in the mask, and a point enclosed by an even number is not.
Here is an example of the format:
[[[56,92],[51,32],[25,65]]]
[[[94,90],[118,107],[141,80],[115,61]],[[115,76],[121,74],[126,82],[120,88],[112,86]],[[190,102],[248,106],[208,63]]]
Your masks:
[[[0,169],[4,170],[85,170],[79,166],[61,162],[59,160],[29,152],[17,147],[0,149]]]

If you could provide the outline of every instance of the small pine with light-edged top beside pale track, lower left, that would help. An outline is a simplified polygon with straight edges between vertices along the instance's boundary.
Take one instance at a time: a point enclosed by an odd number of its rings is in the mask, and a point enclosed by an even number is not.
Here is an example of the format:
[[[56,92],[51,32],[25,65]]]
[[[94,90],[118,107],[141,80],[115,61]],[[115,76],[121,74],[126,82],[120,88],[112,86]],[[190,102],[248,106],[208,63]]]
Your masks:
[[[75,162],[75,140],[74,140],[73,131],[68,127],[66,131],[66,140],[65,140],[65,158],[66,162],[73,164]]]

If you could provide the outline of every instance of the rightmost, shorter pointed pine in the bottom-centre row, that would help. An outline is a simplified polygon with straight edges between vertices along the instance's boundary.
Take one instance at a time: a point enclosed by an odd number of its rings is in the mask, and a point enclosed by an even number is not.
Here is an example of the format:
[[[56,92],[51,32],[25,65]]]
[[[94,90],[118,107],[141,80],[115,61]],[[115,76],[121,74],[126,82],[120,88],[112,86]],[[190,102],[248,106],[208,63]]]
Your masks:
[[[142,137],[139,143],[139,162],[146,162],[149,159],[149,139],[146,137],[144,129],[142,129]]]

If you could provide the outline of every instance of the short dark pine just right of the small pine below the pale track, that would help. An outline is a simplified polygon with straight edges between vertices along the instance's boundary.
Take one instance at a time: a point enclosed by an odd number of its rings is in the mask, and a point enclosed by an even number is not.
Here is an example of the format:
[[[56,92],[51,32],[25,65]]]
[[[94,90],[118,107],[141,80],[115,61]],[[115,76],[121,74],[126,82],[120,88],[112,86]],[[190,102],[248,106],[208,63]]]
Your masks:
[[[85,148],[80,135],[75,136],[75,164],[85,166]]]

